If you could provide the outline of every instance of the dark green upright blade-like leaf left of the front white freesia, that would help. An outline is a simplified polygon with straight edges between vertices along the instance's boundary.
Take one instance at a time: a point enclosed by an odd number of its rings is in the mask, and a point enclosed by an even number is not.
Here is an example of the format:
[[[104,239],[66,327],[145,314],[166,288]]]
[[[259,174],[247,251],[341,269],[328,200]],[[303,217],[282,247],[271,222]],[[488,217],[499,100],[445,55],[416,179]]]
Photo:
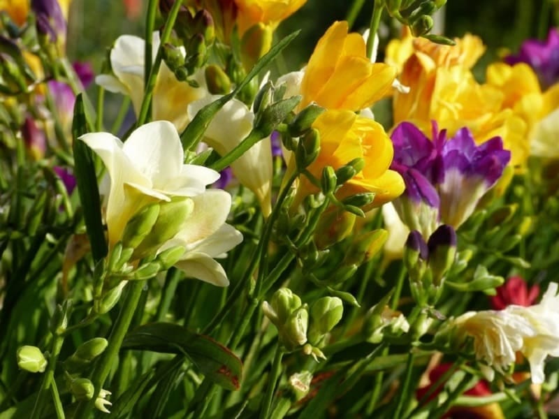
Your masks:
[[[92,151],[85,142],[78,140],[78,137],[87,133],[90,127],[91,124],[88,123],[85,115],[82,94],[78,94],[75,98],[72,124],[74,172],[82,203],[87,236],[92,245],[93,258],[97,262],[107,255],[107,243],[103,231],[103,221],[101,221],[101,199],[99,198]]]

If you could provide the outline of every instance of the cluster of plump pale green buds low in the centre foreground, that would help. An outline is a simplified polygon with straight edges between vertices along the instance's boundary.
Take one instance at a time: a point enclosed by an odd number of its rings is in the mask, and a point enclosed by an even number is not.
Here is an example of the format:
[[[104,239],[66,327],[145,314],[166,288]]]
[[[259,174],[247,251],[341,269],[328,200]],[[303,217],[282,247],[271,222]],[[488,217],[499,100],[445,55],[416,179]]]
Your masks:
[[[269,303],[263,302],[262,309],[277,328],[279,342],[286,351],[302,348],[305,355],[315,360],[326,358],[319,346],[340,322],[344,311],[338,297],[319,298],[309,309],[289,288],[279,288]]]

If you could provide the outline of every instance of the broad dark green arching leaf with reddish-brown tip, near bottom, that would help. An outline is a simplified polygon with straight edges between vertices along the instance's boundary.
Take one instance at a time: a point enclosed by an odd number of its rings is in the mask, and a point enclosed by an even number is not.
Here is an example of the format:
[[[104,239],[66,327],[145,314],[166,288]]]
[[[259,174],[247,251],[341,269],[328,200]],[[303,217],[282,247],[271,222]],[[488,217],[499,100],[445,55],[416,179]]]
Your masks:
[[[132,330],[124,338],[123,349],[177,353],[186,356],[214,383],[238,390],[242,362],[228,348],[208,336],[190,332],[173,323],[150,323]]]

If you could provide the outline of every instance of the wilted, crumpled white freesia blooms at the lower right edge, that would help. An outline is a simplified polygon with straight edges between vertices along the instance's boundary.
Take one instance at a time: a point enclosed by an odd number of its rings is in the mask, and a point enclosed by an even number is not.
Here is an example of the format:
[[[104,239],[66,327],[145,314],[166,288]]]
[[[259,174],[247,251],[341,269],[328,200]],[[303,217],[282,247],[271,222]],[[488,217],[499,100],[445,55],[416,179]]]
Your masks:
[[[559,356],[557,291],[558,284],[551,283],[539,304],[510,305],[501,311],[469,311],[453,319],[449,326],[458,339],[472,337],[477,359],[498,372],[504,372],[520,351],[530,362],[532,383],[540,384],[545,379],[547,356]],[[492,369],[485,369],[484,374],[493,379]]]

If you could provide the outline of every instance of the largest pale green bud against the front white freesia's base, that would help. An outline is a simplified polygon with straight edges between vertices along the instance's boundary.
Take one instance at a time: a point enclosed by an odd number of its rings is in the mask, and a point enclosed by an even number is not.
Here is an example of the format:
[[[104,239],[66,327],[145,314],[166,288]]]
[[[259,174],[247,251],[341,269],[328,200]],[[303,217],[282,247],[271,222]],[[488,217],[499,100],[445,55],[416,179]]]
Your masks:
[[[157,221],[136,247],[134,257],[141,259],[154,256],[161,245],[175,237],[193,210],[194,201],[182,196],[173,197],[170,202],[159,203]]]

